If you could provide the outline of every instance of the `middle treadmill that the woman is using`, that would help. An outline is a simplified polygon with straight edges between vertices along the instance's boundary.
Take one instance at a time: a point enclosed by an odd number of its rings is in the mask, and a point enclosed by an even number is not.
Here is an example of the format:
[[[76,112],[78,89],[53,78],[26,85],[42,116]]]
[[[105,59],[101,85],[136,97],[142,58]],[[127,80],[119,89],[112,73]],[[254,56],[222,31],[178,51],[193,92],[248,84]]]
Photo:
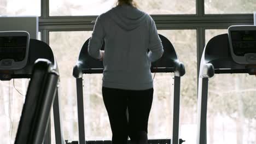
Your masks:
[[[164,46],[162,57],[152,63],[152,73],[174,73],[174,99],[173,99],[173,130],[172,139],[149,140],[150,144],[178,144],[184,142],[179,139],[179,102],[180,102],[180,86],[181,77],[185,74],[184,64],[179,61],[171,42],[159,34],[159,37]],[[103,63],[89,56],[88,54],[89,39],[85,41],[77,64],[73,68],[73,76],[77,81],[77,109],[78,109],[78,130],[79,141],[68,142],[66,144],[110,144],[111,141],[86,141],[85,139],[85,124],[84,124],[84,102],[83,102],[83,74],[102,74]],[[101,50],[104,50],[104,43]],[[130,141],[128,141],[130,143]]]

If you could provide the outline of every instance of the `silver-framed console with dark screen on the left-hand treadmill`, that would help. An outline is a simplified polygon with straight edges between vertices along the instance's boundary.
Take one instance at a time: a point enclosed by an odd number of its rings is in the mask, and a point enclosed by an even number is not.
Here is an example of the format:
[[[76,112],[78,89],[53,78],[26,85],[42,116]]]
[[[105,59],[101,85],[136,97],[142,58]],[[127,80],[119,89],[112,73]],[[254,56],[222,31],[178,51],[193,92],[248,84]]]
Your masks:
[[[24,31],[0,32],[0,70],[26,66],[29,40],[30,35]]]

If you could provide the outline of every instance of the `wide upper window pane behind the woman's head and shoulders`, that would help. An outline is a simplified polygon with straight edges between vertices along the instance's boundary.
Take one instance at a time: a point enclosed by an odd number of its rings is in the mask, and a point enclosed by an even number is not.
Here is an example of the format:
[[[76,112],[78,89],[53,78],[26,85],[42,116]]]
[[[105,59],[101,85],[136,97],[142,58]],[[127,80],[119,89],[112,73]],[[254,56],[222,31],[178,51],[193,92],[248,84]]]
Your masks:
[[[195,14],[195,0],[136,0],[149,14]],[[50,0],[50,16],[100,15],[115,7],[116,0]]]

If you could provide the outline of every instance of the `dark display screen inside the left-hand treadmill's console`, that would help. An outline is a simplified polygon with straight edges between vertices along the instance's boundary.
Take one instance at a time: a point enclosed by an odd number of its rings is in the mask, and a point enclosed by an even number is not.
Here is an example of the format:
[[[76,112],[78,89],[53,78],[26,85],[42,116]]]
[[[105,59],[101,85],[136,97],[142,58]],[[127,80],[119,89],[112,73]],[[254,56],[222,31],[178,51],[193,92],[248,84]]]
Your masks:
[[[26,57],[27,37],[0,37],[0,61],[13,59],[23,61]]]

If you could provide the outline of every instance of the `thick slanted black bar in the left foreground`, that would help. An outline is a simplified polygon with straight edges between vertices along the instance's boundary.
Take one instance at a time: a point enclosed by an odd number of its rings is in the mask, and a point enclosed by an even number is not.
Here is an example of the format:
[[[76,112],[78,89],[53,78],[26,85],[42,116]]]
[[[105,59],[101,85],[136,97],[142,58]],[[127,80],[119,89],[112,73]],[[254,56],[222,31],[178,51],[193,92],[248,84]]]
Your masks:
[[[43,142],[59,80],[59,74],[51,67],[46,59],[34,64],[15,144]]]

